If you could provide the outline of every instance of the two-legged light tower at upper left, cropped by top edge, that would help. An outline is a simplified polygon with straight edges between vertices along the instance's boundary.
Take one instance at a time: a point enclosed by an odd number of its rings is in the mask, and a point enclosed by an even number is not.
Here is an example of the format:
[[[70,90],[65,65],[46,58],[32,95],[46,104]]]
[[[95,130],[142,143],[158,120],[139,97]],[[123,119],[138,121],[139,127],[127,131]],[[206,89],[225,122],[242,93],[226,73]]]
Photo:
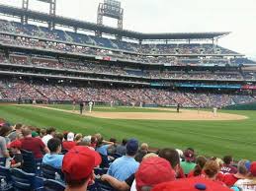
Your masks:
[[[44,3],[49,4],[49,15],[55,16],[56,15],[56,0],[37,0],[37,1],[42,1]],[[23,0],[22,2],[22,8],[28,11],[29,9],[29,0]],[[22,16],[21,18],[22,24],[28,24],[28,17],[27,16]],[[55,24],[52,21],[48,22],[48,28],[49,29],[54,29]]]

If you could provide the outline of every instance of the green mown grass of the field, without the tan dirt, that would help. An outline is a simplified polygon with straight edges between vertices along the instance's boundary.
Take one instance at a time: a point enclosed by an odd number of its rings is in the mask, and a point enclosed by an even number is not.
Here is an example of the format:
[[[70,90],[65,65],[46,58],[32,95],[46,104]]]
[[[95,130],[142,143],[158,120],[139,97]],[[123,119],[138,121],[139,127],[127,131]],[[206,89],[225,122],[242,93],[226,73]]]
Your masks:
[[[68,107],[72,108],[71,105]],[[137,109],[119,107],[116,111],[134,112]],[[149,112],[149,109],[144,111]],[[241,121],[113,120],[79,116],[30,105],[0,105],[0,118],[12,123],[22,122],[39,127],[54,126],[59,131],[68,130],[85,135],[100,132],[106,139],[115,137],[119,141],[135,137],[154,148],[193,147],[199,155],[232,155],[235,159],[256,159],[256,111],[222,112],[242,114],[249,118]]]

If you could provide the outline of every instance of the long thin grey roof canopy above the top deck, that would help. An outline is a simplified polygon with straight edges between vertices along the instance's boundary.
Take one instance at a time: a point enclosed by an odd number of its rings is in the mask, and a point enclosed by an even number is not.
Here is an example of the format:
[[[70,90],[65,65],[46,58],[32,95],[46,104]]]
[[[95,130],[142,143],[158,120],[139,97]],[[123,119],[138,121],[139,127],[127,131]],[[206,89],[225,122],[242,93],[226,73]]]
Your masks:
[[[18,7],[6,6],[0,4],[0,13],[8,16],[22,17],[26,16],[30,20],[41,21],[48,23],[52,21],[54,24],[68,27],[76,28],[86,31],[98,31],[103,33],[109,33],[114,35],[125,36],[128,38],[145,40],[145,39],[213,39],[215,37],[221,37],[230,32],[188,32],[188,33],[142,33],[142,32],[132,32],[128,30],[120,30],[116,28],[111,28],[107,26],[99,26],[94,23],[74,20],[70,18],[64,18],[60,16],[53,16],[46,13],[41,13],[32,10],[24,10]]]

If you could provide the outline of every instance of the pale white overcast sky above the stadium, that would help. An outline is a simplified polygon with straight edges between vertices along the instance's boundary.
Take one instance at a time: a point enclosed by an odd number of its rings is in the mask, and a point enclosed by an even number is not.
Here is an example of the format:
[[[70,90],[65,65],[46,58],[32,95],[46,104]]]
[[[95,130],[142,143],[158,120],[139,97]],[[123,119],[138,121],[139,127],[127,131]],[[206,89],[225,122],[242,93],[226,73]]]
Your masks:
[[[96,23],[103,0],[56,0],[56,14]],[[121,0],[124,29],[136,32],[231,32],[218,44],[256,60],[256,0]],[[22,6],[22,0],[0,0]],[[30,9],[47,13],[48,5],[30,0]],[[117,22],[104,19],[112,27]]]

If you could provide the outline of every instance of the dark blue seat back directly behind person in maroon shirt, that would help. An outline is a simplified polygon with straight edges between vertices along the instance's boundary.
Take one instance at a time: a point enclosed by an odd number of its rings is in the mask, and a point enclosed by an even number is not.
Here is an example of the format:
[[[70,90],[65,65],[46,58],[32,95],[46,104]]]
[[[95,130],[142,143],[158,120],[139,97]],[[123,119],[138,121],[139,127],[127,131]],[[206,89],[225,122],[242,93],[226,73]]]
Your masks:
[[[23,167],[22,169],[28,173],[41,174],[42,159],[35,159],[32,152],[21,150],[23,156]]]

